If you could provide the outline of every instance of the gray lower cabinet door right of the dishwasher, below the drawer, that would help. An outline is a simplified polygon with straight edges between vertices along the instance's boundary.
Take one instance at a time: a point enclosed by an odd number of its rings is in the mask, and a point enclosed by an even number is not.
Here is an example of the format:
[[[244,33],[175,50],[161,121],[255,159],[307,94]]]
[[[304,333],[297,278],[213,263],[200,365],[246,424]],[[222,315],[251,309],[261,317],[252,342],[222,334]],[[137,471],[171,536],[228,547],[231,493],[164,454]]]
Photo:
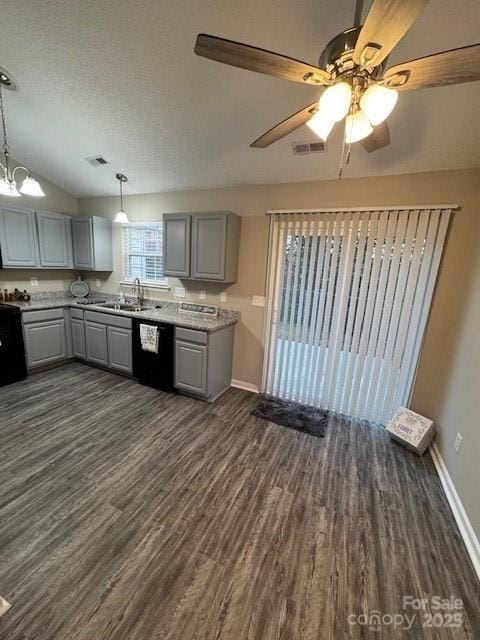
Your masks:
[[[175,341],[175,387],[207,395],[207,347]]]

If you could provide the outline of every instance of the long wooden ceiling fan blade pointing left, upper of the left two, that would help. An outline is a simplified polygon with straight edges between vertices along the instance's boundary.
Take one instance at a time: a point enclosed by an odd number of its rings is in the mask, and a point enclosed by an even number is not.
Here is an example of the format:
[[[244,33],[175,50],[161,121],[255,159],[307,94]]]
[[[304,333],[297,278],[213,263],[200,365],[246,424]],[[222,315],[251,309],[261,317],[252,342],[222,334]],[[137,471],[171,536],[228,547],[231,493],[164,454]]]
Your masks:
[[[314,85],[330,84],[329,73],[307,62],[204,33],[197,36],[195,53],[210,60],[283,80]]]

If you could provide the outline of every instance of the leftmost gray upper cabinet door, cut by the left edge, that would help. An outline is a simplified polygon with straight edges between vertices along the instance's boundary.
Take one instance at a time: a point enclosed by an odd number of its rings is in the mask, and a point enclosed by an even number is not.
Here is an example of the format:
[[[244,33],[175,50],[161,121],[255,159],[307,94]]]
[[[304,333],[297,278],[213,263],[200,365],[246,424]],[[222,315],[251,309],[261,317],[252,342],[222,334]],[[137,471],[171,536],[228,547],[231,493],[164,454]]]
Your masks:
[[[35,212],[29,209],[0,209],[0,247],[4,267],[38,267]]]

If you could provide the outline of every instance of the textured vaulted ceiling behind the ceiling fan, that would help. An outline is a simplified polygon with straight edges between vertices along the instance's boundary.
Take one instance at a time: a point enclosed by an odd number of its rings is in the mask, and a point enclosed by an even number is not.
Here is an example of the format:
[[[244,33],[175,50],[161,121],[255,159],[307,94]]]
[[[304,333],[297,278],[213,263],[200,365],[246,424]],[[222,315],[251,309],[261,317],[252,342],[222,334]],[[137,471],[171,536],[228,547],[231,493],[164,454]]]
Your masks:
[[[368,3],[366,3],[368,4]],[[70,193],[127,193],[334,178],[339,127],[326,154],[293,156],[297,130],[249,143],[320,91],[193,53],[212,33],[317,62],[353,21],[353,0],[0,0],[0,66],[13,155]],[[390,63],[475,43],[478,0],[431,0]],[[355,146],[345,176],[480,165],[480,82],[401,94],[392,144]],[[85,158],[111,164],[94,168]]]

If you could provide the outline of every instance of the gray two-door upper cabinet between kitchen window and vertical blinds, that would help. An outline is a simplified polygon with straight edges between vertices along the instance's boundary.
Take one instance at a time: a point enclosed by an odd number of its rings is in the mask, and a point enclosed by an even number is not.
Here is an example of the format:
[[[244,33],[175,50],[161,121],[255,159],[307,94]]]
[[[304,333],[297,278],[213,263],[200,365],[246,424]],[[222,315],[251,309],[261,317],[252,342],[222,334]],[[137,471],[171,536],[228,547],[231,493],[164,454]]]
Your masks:
[[[165,275],[235,282],[240,218],[230,211],[163,216]]]

